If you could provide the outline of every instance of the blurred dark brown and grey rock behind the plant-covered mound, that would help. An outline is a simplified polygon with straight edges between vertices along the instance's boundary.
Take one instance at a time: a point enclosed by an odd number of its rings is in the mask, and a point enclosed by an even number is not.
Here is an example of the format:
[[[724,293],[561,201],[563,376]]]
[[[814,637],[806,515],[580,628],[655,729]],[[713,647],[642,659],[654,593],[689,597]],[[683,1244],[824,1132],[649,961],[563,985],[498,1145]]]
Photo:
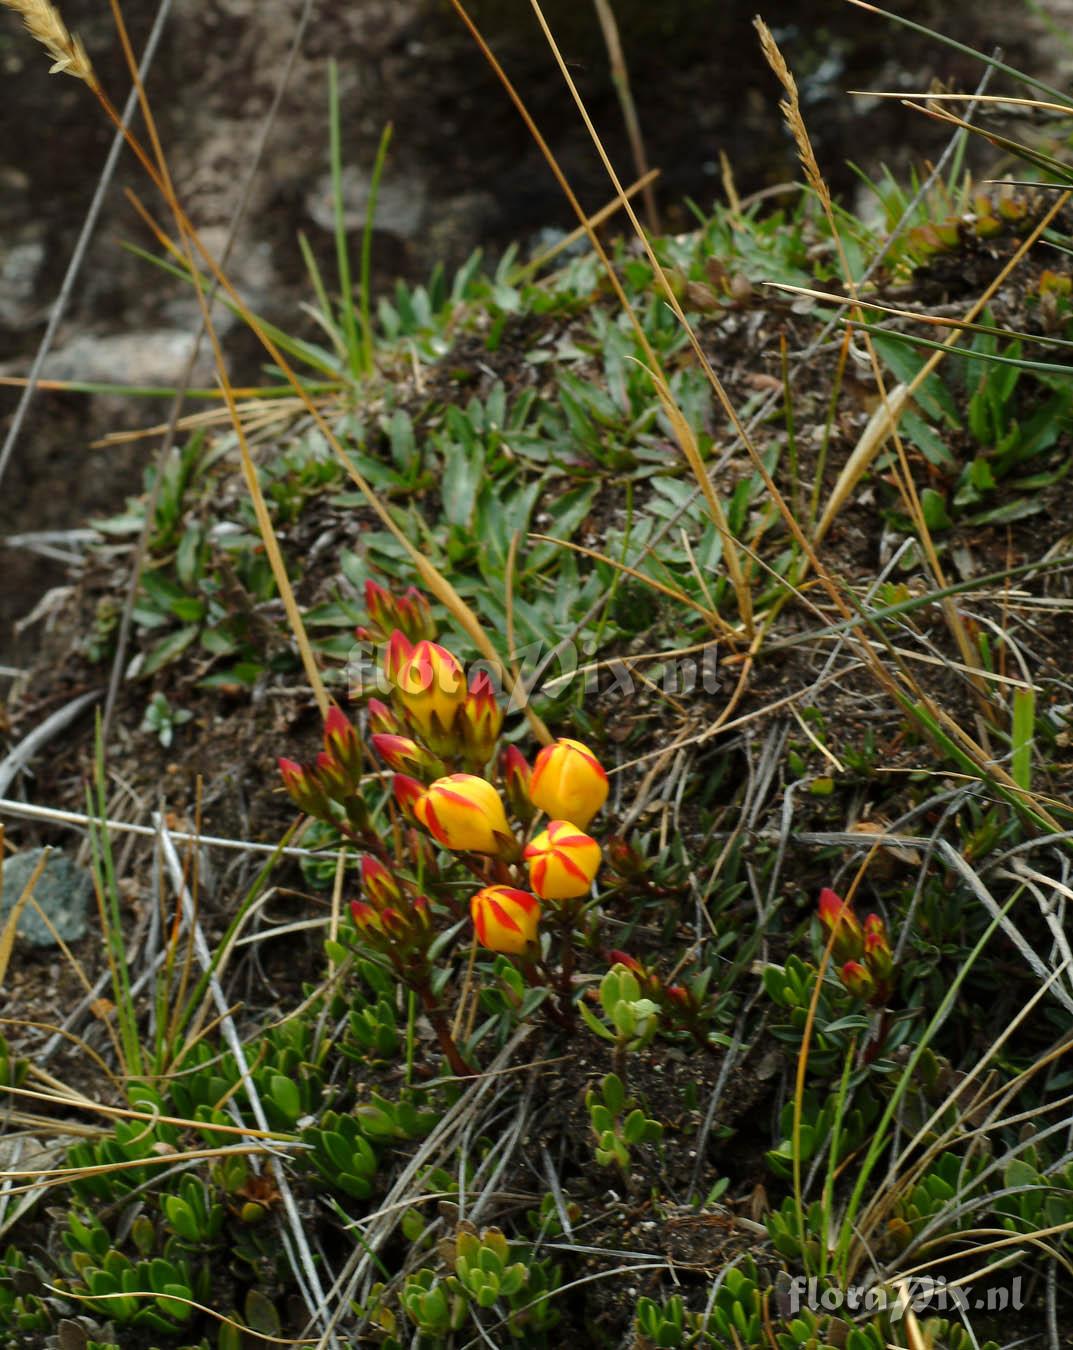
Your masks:
[[[1061,0],[1047,0],[1061,19]],[[154,5],[128,0],[124,15],[140,50]],[[525,7],[521,7],[522,9]],[[868,109],[868,146],[857,131],[860,105],[849,86],[919,88],[938,77],[972,85],[972,61],[898,32],[881,20],[830,0],[819,23],[800,22],[800,7],[765,7],[799,77],[817,148],[835,186],[853,188],[845,167],[858,158],[875,167],[906,163],[903,115]],[[476,5],[495,49],[582,200],[607,197],[603,173],[564,94],[528,14],[506,20],[494,4]],[[561,35],[574,77],[620,165],[629,163],[621,116],[607,78],[595,18],[584,7],[553,3],[549,20]],[[776,111],[776,90],[750,30],[749,5],[678,0],[653,18],[646,7],[621,5],[651,162],[663,174],[665,223],[686,227],[687,196],[710,201],[719,190],[725,151],[742,193],[794,176],[792,147]],[[1043,9],[988,4],[969,12],[916,3],[922,22],[953,24],[956,36],[1001,43],[1030,69],[1061,78],[1066,59],[1043,23]],[[121,101],[126,81],[111,19],[96,5],[72,3],[65,15],[78,31],[103,82]],[[217,251],[239,200],[296,26],[300,0],[207,0],[175,7],[148,81],[173,177],[207,243]],[[296,329],[309,296],[297,235],[331,259],[327,159],[327,63],[339,63],[344,109],[343,154],[352,224],[359,228],[368,170],[387,122],[393,150],[378,208],[375,275],[424,277],[436,262],[456,266],[474,248],[495,254],[512,239],[526,247],[541,231],[572,224],[521,122],[507,111],[483,59],[445,3],[360,0],[314,4],[279,113],[271,124],[231,259],[250,304]],[[0,377],[23,375],[40,340],[49,308],[81,228],[111,132],[73,80],[49,78],[32,43],[13,19],[0,27],[0,63],[9,97],[0,107]],[[938,139],[914,127],[914,154]],[[938,134],[937,134],[938,136]],[[167,385],[180,378],[196,327],[196,304],[177,282],[120,247],[148,247],[124,190],[144,194],[138,166],[121,157],[100,224],[61,324],[45,374],[54,379]],[[150,197],[147,204],[153,207]],[[225,319],[221,327],[227,328]],[[238,379],[256,378],[259,356],[231,333]],[[208,370],[202,363],[198,373]],[[0,387],[0,436],[18,390]],[[107,432],[155,421],[159,408],[103,396],[42,393],[19,437],[0,490],[0,535],[74,529],[113,509],[136,489],[146,447],[92,443]],[[62,483],[62,491],[57,491]],[[32,629],[12,625],[63,583],[62,545],[4,548],[0,568],[0,666],[18,666],[34,649]]]

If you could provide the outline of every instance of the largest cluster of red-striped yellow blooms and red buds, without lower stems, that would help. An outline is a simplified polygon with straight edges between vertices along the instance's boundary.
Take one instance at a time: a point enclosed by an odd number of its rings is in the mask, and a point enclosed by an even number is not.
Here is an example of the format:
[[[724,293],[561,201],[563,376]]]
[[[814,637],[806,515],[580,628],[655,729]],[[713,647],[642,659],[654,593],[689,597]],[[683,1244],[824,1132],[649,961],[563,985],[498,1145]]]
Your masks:
[[[470,680],[436,641],[428,601],[410,589],[395,597],[366,586],[368,626],[381,644],[387,702],[367,705],[368,744],[391,774],[395,806],[409,832],[420,875],[435,869],[435,845],[459,855],[478,880],[470,914],[478,941],[493,952],[537,960],[544,906],[564,933],[576,921],[599,871],[599,844],[586,833],[607,798],[607,775],[575,740],[544,747],[532,767],[516,747],[495,755],[503,713],[489,674]],[[370,945],[413,972],[431,940],[429,896],[383,861],[360,796],[358,733],[337,709],[325,724],[316,764],[281,760],[283,783],[304,811],[337,825],[370,849],[362,861],[362,898],[352,905]],[[547,815],[537,828],[540,813]],[[443,900],[455,914],[449,892]]]

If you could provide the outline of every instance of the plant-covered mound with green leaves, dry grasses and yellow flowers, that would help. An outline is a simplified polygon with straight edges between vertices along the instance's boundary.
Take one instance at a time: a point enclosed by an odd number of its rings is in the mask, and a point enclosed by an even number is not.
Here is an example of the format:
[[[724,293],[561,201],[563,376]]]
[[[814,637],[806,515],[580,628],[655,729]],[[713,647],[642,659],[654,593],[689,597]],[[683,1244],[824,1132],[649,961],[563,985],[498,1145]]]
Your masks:
[[[1062,1343],[1069,170],[979,93],[850,216],[757,36],[781,207],[374,304],[337,197],[297,333],[136,142],[270,366],[12,706],[99,930],[34,979],[43,857],[0,934],[4,1343]]]

